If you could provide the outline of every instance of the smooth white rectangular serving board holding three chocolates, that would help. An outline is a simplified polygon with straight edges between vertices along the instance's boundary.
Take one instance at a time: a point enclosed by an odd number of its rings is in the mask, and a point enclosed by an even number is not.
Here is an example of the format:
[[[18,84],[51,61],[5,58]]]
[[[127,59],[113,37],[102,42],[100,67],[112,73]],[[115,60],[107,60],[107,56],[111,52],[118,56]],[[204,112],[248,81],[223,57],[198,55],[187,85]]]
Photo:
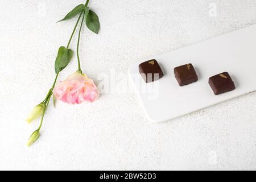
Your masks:
[[[138,65],[156,59],[164,72],[160,80],[145,83]],[[192,63],[199,80],[179,86],[174,68]],[[218,96],[208,84],[210,76],[229,72],[236,89]],[[256,90],[256,24],[176,51],[134,63],[129,76],[148,118],[166,121]]]

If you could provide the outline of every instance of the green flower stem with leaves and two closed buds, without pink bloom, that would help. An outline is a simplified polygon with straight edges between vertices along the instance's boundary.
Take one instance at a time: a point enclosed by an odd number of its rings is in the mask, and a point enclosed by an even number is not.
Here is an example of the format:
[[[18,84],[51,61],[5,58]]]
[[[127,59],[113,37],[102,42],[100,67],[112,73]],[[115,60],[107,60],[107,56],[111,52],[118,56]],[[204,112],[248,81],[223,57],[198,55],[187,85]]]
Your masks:
[[[67,67],[67,65],[69,64],[69,62],[72,59],[73,51],[72,51],[72,49],[69,49],[69,46],[71,44],[71,40],[73,38],[73,35],[75,34],[75,31],[77,29],[77,25],[79,24],[81,16],[83,15],[80,30],[79,30],[79,39],[78,39],[78,42],[77,42],[77,61],[78,61],[78,70],[77,70],[77,72],[82,74],[81,66],[80,66],[80,57],[79,57],[79,44],[80,44],[81,28],[82,28],[82,24],[84,23],[84,19],[86,20],[85,21],[86,26],[89,28],[90,31],[94,32],[95,34],[98,34],[98,31],[100,30],[100,21],[98,19],[98,16],[92,10],[89,10],[88,3],[89,3],[89,0],[86,1],[85,5],[81,4],[79,6],[76,6],[63,19],[61,19],[59,21],[59,22],[61,22],[63,20],[68,20],[68,19],[71,19],[71,18],[75,17],[76,15],[80,14],[79,18],[77,19],[75,28],[73,29],[73,32],[71,34],[71,38],[68,41],[67,48],[66,47],[60,47],[59,48],[59,51],[58,51],[58,54],[57,54],[57,57],[56,57],[56,60],[55,60],[56,77],[55,77],[55,81],[53,82],[52,88],[49,89],[49,92],[48,92],[45,100],[43,102],[41,102],[39,105],[37,105],[36,107],[34,107],[30,116],[28,117],[28,121],[31,122],[32,120],[42,116],[38,129],[35,130],[34,133],[32,133],[30,139],[28,140],[28,143],[27,143],[28,146],[30,146],[32,143],[35,142],[35,140],[37,140],[39,138],[39,134],[40,134],[39,131],[42,127],[44,115],[46,114],[46,110],[47,110],[47,107],[48,107],[48,104],[49,104],[49,100],[50,100],[50,98],[53,94],[53,89],[55,88],[57,77],[59,76],[59,73],[65,67]],[[54,102],[53,102],[53,104],[54,104]]]

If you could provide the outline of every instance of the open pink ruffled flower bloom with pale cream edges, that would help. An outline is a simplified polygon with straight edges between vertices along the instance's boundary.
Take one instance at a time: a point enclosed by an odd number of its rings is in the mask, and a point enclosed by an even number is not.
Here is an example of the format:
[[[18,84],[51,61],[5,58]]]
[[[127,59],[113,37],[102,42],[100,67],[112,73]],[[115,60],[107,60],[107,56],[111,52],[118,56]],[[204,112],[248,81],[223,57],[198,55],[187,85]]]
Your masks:
[[[93,80],[85,74],[73,73],[57,85],[53,94],[58,100],[68,104],[81,104],[84,101],[94,102],[100,96]]]

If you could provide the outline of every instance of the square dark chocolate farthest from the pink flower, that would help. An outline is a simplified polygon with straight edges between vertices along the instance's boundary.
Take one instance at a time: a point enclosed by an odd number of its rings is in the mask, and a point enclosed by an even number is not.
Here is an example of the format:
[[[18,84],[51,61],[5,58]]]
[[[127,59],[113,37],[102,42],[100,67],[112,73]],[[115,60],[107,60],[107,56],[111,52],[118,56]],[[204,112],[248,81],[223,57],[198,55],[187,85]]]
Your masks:
[[[232,91],[236,89],[232,78],[228,72],[220,73],[209,78],[209,85],[215,95]]]

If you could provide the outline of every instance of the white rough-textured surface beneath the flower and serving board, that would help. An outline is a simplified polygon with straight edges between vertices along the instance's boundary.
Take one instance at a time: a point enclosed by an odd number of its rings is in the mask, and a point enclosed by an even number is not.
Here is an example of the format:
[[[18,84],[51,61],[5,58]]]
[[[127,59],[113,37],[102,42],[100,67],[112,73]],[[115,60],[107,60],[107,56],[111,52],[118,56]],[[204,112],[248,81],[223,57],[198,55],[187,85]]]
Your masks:
[[[1,1],[0,169],[256,169],[255,92],[163,123],[148,121],[133,89],[101,94],[93,104],[58,102],[28,148],[39,121],[25,119],[51,87],[57,49],[76,19],[55,22],[80,3]],[[82,30],[80,56],[97,84],[100,73],[127,74],[144,57],[256,23],[255,0],[92,0],[90,8],[101,30]],[[59,80],[76,69],[74,56]]]

